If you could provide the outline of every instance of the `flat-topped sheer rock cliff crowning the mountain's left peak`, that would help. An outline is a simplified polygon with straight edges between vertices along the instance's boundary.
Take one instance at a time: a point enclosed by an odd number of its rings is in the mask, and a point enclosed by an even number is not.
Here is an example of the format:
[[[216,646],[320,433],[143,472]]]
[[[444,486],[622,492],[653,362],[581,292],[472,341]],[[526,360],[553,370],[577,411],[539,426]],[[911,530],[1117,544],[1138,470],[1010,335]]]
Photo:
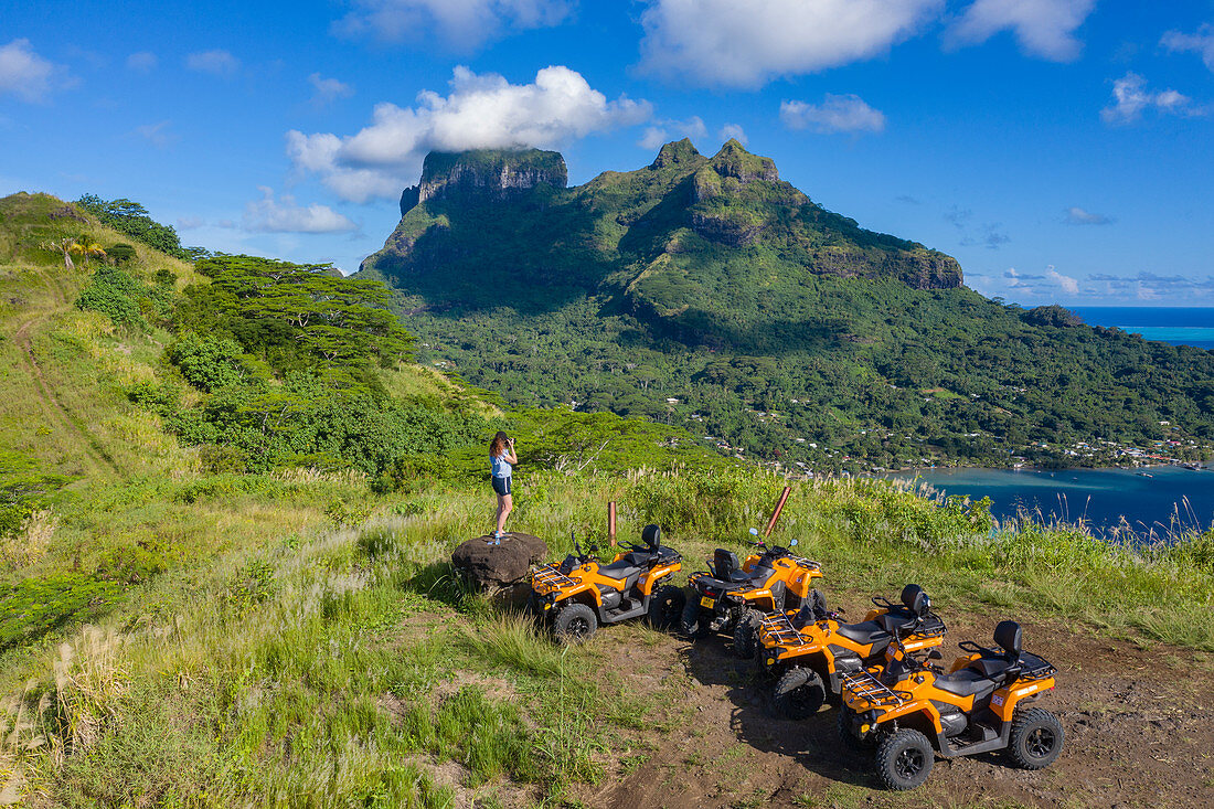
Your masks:
[[[431,199],[501,202],[540,185],[565,188],[567,183],[568,170],[560,152],[431,152],[421,168],[421,182],[401,194],[401,215]]]

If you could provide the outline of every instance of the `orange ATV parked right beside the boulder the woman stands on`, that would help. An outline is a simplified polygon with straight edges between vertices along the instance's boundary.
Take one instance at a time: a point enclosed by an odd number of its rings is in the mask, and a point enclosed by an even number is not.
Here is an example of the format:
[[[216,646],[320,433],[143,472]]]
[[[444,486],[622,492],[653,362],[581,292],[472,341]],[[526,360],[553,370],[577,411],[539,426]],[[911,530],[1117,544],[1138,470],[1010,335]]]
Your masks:
[[[642,615],[654,627],[669,628],[683,607],[683,592],[669,583],[682,568],[682,556],[662,544],[662,528],[656,525],[645,526],[641,541],[643,545],[628,545],[628,553],[617,554],[609,564],[594,558],[597,547],[584,555],[574,543],[577,555],[532,573],[532,611],[551,621],[552,634],[565,643],[582,643],[601,623]]]

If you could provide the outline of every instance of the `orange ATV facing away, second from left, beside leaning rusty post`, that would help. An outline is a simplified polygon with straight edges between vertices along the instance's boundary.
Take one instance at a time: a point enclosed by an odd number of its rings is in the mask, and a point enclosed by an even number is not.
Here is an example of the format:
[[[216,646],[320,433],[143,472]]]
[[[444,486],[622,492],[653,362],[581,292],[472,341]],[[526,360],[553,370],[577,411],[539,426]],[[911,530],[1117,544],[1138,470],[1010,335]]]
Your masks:
[[[750,528],[758,536],[756,528]],[[687,579],[691,598],[682,613],[682,630],[693,640],[713,632],[733,635],[733,651],[739,657],[754,657],[756,632],[765,616],[796,610],[805,602],[822,566],[794,556],[788,549],[758,539],[758,553],[739,564],[732,550],[717,548],[708,560],[709,572],[692,573]],[[796,539],[789,545],[796,547]]]

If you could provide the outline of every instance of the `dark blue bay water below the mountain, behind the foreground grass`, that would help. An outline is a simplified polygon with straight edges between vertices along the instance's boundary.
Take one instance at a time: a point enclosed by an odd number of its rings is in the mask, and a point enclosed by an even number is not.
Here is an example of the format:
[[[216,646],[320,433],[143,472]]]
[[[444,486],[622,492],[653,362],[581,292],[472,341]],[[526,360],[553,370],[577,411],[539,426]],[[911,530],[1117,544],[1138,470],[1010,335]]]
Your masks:
[[[1150,477],[1147,476],[1150,475]],[[989,497],[999,520],[1078,522],[1096,533],[1129,526],[1157,537],[1214,524],[1214,471],[1182,466],[1147,469],[927,469],[891,475],[918,479],[946,494]]]

